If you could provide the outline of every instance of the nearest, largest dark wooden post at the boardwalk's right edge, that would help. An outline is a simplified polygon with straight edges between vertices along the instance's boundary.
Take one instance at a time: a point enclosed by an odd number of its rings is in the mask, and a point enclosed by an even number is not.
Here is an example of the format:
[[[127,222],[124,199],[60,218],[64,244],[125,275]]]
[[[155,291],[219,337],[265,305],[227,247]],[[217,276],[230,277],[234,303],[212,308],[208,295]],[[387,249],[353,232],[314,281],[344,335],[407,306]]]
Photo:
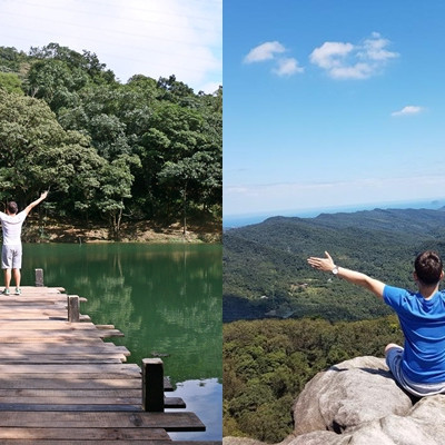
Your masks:
[[[160,358],[142,359],[142,409],[164,412],[164,363]]]

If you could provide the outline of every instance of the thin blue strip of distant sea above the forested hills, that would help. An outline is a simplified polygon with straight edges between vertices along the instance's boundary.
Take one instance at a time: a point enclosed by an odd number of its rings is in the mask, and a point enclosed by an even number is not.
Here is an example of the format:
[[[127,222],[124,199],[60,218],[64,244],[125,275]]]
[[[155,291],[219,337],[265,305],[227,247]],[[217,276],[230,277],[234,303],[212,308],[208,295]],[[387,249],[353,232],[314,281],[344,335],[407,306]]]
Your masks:
[[[437,210],[445,206],[445,198],[438,199],[424,199],[416,201],[394,201],[394,202],[380,202],[380,204],[363,204],[363,205],[349,205],[349,206],[337,206],[337,207],[320,207],[312,209],[299,209],[299,210],[273,210],[263,211],[255,214],[244,215],[225,215],[222,216],[222,228],[231,229],[243,226],[249,226],[253,224],[259,224],[264,220],[277,216],[296,217],[296,218],[315,218],[320,214],[339,214],[347,212],[353,214],[363,210],[378,209],[429,209]]]

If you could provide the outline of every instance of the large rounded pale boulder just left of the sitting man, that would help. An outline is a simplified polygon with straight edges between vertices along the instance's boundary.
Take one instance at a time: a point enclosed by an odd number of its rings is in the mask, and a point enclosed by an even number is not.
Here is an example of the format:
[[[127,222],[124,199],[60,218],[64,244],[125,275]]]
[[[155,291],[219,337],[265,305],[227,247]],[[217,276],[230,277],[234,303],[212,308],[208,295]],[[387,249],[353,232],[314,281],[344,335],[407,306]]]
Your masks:
[[[343,433],[389,414],[405,415],[412,406],[383,358],[357,357],[318,373],[305,386],[294,406],[295,433]]]

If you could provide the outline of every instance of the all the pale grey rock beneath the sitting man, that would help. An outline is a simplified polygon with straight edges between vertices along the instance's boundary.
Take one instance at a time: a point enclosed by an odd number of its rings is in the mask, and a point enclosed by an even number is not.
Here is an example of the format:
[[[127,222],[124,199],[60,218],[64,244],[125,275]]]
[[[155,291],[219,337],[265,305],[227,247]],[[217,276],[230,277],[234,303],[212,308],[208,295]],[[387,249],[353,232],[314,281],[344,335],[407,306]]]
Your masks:
[[[383,358],[357,357],[305,386],[294,422],[286,445],[443,445],[445,395],[414,399],[395,383]],[[225,445],[235,445],[231,441],[225,438]]]

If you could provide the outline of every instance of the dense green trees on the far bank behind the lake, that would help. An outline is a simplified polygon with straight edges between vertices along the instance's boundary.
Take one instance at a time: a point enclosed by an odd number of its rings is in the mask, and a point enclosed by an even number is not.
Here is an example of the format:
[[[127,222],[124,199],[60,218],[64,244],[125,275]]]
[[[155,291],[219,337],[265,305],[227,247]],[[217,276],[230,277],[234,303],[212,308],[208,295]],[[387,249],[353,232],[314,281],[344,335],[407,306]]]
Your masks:
[[[0,201],[50,189],[48,217],[219,227],[222,88],[175,76],[127,83],[95,53],[50,43],[0,47]]]

